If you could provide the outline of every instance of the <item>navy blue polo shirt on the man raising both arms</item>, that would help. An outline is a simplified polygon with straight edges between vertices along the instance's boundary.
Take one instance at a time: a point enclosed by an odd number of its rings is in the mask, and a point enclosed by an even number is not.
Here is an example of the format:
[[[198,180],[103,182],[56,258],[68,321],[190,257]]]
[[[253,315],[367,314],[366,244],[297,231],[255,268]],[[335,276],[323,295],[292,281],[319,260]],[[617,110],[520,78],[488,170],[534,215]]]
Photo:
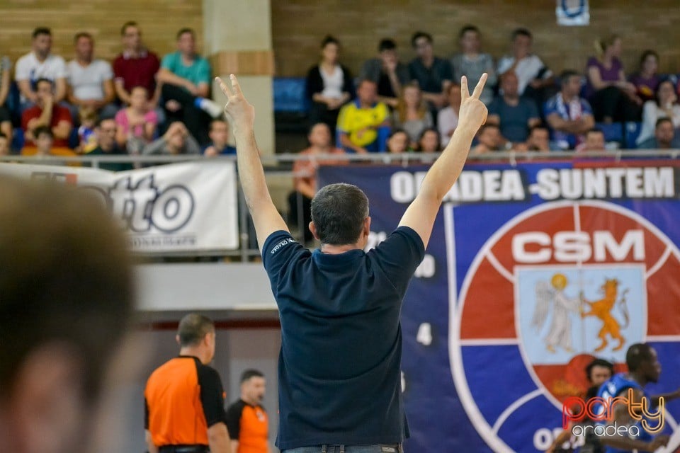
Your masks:
[[[399,313],[424,253],[407,226],[368,253],[312,253],[286,231],[267,238],[262,260],[281,321],[279,449],[408,437]]]

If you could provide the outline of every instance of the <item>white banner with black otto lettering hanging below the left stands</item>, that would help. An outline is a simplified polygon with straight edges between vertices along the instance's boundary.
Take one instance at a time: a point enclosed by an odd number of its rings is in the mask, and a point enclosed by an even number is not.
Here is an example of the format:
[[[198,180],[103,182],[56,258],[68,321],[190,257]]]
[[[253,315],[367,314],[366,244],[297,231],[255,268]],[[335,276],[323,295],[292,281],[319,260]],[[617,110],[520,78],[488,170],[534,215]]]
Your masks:
[[[140,253],[233,250],[239,246],[237,183],[231,161],[111,172],[0,164],[0,173],[58,180],[101,195]]]

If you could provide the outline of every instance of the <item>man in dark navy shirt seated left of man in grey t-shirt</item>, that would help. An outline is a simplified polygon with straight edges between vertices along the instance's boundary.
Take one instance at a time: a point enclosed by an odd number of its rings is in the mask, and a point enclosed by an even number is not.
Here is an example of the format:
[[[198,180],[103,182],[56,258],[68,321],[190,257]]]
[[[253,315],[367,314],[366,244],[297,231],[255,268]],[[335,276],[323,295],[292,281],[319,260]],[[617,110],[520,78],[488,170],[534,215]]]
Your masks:
[[[435,57],[432,49],[432,36],[418,31],[411,38],[416,58],[409,63],[411,79],[417,81],[426,101],[436,110],[448,102],[446,93],[453,80],[451,64],[445,59]]]

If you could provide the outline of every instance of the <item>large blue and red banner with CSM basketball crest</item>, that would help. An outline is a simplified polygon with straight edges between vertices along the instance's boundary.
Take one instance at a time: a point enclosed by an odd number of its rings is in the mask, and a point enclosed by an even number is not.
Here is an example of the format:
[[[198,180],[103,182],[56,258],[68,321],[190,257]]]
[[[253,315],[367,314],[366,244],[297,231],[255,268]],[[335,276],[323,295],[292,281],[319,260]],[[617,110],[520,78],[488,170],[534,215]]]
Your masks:
[[[426,171],[322,166],[319,187],[365,191],[370,248]],[[649,394],[680,387],[679,176],[671,160],[465,167],[404,299],[408,452],[543,452],[589,386],[584,367],[625,371],[633,343],[662,364]],[[680,401],[663,415],[672,452]]]

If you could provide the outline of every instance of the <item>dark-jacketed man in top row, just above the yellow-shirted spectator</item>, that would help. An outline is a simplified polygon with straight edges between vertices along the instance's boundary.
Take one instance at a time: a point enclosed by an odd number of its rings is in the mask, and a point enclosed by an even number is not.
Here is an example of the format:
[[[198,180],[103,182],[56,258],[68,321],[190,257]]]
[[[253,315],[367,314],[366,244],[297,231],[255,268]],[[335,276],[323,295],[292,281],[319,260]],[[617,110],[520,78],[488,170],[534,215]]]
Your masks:
[[[378,101],[397,107],[402,86],[410,81],[409,67],[399,61],[394,40],[384,39],[378,45],[378,58],[364,62],[359,79],[368,79],[378,84]]]

